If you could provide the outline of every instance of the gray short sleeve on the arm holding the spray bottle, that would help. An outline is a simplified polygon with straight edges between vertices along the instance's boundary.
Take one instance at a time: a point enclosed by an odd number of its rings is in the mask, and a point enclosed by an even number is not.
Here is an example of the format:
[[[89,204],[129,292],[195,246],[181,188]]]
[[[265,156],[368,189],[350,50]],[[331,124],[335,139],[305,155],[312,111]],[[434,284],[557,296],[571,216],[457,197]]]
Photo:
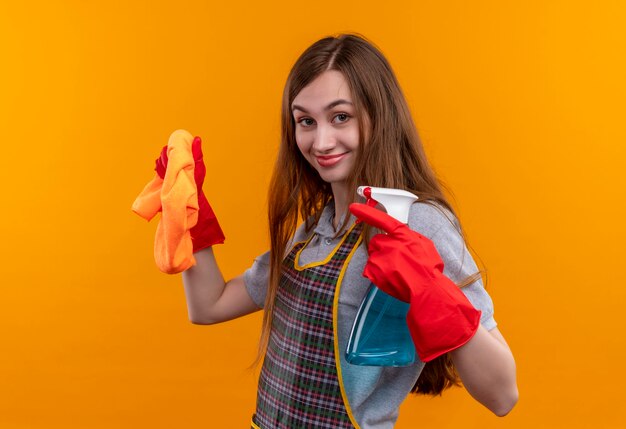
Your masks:
[[[416,203],[409,212],[409,227],[431,239],[444,263],[443,273],[460,284],[478,272],[459,230],[454,215],[447,209],[431,204]],[[482,312],[481,324],[487,330],[497,326],[493,317],[493,301],[485,290],[482,278],[464,286],[461,290],[472,305]]]

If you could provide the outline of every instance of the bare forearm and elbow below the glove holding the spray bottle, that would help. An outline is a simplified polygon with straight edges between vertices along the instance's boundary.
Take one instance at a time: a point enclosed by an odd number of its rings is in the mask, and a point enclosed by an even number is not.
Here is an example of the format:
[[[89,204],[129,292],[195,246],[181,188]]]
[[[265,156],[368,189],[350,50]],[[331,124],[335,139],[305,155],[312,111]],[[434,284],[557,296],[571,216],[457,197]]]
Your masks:
[[[511,411],[518,399],[515,360],[498,328],[480,326],[450,355],[470,395],[497,416]]]

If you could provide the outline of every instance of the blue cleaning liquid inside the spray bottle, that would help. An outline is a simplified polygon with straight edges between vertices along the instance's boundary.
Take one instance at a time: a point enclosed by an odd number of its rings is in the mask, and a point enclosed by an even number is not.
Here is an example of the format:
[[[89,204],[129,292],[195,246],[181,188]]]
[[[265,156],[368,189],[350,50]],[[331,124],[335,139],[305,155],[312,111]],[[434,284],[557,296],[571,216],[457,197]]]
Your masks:
[[[415,362],[415,346],[406,324],[408,311],[408,303],[372,284],[354,320],[346,360],[369,366],[407,366]]]

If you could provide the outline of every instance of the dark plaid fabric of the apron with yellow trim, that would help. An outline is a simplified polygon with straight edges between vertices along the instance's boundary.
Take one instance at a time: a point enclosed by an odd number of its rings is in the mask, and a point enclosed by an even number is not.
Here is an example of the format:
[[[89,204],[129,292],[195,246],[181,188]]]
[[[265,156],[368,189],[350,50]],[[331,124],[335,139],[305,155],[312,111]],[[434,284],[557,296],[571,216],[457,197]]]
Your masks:
[[[333,334],[339,275],[361,233],[347,233],[330,260],[298,270],[298,243],[283,261],[254,424],[262,429],[354,428],[341,396]]]

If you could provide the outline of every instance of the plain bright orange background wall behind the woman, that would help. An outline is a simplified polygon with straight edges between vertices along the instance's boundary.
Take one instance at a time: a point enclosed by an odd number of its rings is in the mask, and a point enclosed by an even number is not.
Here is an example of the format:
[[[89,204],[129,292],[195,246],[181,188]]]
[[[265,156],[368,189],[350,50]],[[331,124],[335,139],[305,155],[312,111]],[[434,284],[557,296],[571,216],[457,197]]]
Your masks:
[[[623,427],[624,22],[618,1],[3,2],[0,427],[249,427],[260,313],[191,325],[130,205],[173,130],[201,135],[241,273],[286,75],[342,31],[394,66],[518,365],[504,419],[456,389],[397,427]]]

